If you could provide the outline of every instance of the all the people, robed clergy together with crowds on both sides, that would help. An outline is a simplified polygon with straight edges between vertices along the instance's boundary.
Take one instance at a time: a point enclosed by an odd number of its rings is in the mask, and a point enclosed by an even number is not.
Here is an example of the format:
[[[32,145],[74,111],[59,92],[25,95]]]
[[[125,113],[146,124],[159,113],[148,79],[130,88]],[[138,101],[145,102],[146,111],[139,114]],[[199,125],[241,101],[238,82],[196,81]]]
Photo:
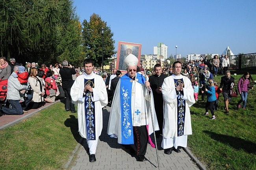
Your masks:
[[[74,105],[78,106],[78,131],[87,140],[90,162],[96,161],[102,109],[106,105],[111,107],[108,135],[117,138],[137,161],[146,161],[147,143],[151,142],[149,135],[154,131],[156,138],[162,136],[161,147],[165,154],[179,153],[181,147],[187,147],[187,136],[192,134],[189,108],[198,102],[199,92],[201,101],[207,96],[204,115],[209,115],[210,110],[210,119],[215,120],[220,93],[228,113],[230,92],[235,86],[228,70],[228,57],[224,55],[221,59],[215,55],[212,61],[207,58],[184,64],[176,61],[170,68],[156,64],[154,72],[150,72],[139,68],[137,57],[129,54],[124,59],[126,74],[113,69],[111,75],[103,72],[102,76],[92,59],[85,59],[81,68],[65,60],[54,67],[42,64],[41,68],[37,63],[26,63],[23,67],[13,58],[10,63],[5,57],[0,58],[0,77],[8,80],[6,99],[12,106],[1,107],[0,114],[21,115],[29,109],[30,103],[31,108],[36,109],[45,102],[55,102],[63,93],[66,111],[76,113]],[[213,81],[219,68],[220,74],[224,74],[220,85]],[[238,109],[245,109],[248,89],[252,89],[250,81],[253,80],[249,72],[238,81],[241,96]]]

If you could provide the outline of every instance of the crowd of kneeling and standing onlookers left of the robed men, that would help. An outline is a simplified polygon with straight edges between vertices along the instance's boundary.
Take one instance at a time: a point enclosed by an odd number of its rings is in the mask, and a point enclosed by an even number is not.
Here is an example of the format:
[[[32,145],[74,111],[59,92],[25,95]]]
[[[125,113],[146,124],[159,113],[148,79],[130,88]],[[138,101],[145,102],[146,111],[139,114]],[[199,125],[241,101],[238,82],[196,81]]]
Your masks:
[[[65,109],[75,113],[70,89],[74,80],[83,74],[78,67],[67,61],[52,64],[27,62],[25,67],[14,58],[6,61],[0,57],[0,82],[7,85],[5,99],[1,103],[0,116],[22,115],[29,109],[38,109],[45,103],[54,103],[57,99],[66,98]],[[83,69],[84,70],[84,69]],[[2,93],[4,94],[4,93]],[[4,95],[3,95],[4,96]]]

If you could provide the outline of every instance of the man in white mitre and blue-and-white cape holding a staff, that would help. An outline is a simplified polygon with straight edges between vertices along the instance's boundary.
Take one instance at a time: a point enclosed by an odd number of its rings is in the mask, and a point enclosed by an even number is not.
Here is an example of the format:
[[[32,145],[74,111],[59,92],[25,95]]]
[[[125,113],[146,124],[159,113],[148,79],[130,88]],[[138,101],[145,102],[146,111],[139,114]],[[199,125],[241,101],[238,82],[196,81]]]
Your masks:
[[[122,76],[115,90],[108,121],[108,135],[117,137],[117,142],[130,149],[137,161],[146,161],[148,134],[153,133],[148,98],[152,104],[155,130],[159,130],[152,92],[148,96],[150,83],[136,72],[138,59],[129,54],[124,63],[127,73]],[[148,125],[148,131],[147,131]]]

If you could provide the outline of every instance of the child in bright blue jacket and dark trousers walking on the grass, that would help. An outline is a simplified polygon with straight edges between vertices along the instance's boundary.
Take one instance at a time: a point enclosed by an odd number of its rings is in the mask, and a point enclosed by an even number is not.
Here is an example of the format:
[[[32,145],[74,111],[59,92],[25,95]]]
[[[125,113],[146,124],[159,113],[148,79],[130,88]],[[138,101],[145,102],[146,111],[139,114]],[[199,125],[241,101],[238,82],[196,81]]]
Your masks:
[[[207,83],[208,83],[208,85],[206,85],[205,91],[202,91],[202,93],[204,93],[204,92],[207,93],[207,101],[206,101],[206,105],[205,105],[205,115],[209,115],[208,109],[210,109],[211,115],[212,115],[212,117],[210,119],[216,119],[215,115],[214,115],[214,110],[213,110],[213,104],[216,100],[213,79],[208,79]]]

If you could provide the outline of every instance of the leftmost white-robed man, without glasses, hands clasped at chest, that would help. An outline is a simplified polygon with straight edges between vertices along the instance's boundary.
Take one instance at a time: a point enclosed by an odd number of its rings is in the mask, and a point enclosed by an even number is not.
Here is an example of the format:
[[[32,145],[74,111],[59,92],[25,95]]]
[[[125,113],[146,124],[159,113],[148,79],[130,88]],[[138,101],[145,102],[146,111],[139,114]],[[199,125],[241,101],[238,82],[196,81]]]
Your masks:
[[[87,140],[89,161],[95,162],[98,138],[102,131],[102,108],[108,104],[106,85],[93,72],[93,60],[83,61],[85,74],[78,76],[71,87],[72,102],[78,106],[78,131]]]

